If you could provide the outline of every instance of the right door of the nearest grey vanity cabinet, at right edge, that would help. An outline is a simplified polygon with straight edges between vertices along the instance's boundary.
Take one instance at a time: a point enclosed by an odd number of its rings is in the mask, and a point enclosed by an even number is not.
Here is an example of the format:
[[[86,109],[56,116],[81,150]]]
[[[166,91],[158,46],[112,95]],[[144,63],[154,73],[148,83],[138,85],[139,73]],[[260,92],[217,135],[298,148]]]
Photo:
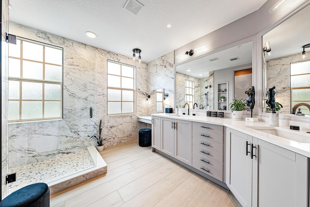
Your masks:
[[[306,207],[308,158],[260,139],[253,141],[258,143],[258,158],[253,159],[253,207]]]

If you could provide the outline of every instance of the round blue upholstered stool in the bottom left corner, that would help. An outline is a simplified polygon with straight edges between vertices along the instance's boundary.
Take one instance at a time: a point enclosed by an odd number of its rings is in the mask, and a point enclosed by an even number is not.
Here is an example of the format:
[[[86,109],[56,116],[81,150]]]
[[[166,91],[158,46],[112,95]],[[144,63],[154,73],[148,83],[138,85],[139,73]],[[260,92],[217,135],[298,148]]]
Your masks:
[[[49,207],[49,188],[46,183],[25,186],[5,197],[0,207]]]

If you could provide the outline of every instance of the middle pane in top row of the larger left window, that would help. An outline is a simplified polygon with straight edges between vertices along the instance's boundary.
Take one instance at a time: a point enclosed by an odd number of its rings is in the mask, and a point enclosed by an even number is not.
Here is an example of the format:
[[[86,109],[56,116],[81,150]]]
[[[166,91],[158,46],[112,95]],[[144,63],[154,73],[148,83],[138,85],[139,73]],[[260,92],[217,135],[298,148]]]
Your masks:
[[[43,61],[43,45],[23,41],[23,58]]]

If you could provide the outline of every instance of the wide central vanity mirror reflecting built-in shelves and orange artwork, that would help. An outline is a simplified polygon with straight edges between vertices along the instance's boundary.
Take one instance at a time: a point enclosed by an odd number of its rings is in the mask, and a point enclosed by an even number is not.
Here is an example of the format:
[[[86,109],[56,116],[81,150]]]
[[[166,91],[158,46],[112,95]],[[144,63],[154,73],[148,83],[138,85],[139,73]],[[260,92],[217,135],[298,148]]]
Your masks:
[[[176,66],[176,106],[229,110],[234,99],[247,99],[252,86],[252,41]],[[246,71],[236,73],[237,71]],[[223,99],[221,98],[224,97]]]

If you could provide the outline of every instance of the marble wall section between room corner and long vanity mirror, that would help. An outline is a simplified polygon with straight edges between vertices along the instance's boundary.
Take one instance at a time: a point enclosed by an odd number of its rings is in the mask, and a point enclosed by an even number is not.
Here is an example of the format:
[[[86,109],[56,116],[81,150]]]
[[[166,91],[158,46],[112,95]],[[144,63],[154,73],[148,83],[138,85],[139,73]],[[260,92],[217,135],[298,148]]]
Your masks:
[[[164,101],[164,107],[174,108],[174,52],[170,52],[163,55],[151,62],[147,63],[148,81],[147,91],[151,93],[151,98],[146,101],[146,97],[143,100],[146,102],[148,108],[148,114],[156,113],[156,89],[165,89],[165,93],[168,93],[168,98]]]

